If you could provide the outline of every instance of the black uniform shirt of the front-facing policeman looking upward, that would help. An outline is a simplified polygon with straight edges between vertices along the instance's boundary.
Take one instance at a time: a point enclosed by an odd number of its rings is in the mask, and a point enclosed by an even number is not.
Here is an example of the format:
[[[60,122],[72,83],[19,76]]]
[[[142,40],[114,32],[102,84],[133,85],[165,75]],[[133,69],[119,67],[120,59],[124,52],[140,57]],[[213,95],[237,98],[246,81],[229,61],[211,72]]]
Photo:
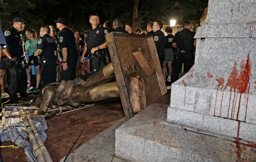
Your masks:
[[[88,29],[85,36],[87,50],[91,51],[92,48],[103,44],[106,41],[106,34],[108,34],[107,29],[101,25],[98,25],[95,29],[92,29],[92,27]]]

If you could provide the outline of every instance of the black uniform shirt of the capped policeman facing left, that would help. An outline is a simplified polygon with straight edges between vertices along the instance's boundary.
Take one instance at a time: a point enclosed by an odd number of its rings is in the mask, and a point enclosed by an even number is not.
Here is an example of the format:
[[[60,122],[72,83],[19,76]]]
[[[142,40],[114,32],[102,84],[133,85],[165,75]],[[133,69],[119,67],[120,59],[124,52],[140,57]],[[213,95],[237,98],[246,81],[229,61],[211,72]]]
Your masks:
[[[60,48],[68,48],[71,51],[75,51],[75,37],[74,33],[68,28],[63,28],[59,33],[58,43]]]

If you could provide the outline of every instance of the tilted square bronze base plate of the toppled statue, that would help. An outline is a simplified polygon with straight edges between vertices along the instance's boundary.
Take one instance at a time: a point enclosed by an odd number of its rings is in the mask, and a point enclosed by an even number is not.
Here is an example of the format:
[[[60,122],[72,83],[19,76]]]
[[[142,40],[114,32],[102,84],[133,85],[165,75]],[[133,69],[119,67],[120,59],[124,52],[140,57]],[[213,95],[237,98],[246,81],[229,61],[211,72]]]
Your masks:
[[[167,92],[152,36],[111,32],[106,35],[126,120],[133,116],[130,78],[143,80],[146,106]]]

